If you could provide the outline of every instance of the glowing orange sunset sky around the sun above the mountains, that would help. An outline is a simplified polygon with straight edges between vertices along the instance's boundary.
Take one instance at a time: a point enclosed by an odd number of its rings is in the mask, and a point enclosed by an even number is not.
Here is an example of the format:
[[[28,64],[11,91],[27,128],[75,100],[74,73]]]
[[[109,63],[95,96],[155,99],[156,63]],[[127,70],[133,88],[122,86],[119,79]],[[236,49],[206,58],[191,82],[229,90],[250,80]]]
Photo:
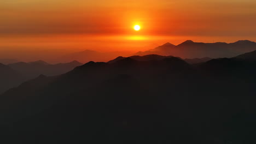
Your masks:
[[[137,52],[187,39],[256,41],[255,8],[251,0],[1,1],[0,57],[30,61],[86,49]]]

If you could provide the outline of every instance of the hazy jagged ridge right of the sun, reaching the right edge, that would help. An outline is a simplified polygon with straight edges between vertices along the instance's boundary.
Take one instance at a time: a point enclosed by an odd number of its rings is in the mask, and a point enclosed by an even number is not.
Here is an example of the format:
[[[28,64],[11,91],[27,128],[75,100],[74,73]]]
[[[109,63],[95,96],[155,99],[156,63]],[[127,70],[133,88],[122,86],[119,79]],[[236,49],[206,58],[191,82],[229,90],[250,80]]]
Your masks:
[[[182,58],[200,58],[200,57],[235,57],[242,53],[256,50],[256,43],[249,40],[240,40],[235,43],[195,43],[187,40],[184,43],[174,46],[170,43],[156,47],[155,49],[137,52],[135,55],[163,55],[178,56]]]

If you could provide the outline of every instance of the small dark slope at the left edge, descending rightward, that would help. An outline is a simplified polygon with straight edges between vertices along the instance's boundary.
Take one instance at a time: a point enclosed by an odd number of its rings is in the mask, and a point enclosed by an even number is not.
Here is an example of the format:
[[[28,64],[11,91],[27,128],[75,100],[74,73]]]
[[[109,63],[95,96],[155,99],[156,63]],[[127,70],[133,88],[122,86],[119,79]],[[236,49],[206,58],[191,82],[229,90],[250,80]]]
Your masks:
[[[0,94],[18,86],[23,80],[24,77],[18,71],[0,63]]]

